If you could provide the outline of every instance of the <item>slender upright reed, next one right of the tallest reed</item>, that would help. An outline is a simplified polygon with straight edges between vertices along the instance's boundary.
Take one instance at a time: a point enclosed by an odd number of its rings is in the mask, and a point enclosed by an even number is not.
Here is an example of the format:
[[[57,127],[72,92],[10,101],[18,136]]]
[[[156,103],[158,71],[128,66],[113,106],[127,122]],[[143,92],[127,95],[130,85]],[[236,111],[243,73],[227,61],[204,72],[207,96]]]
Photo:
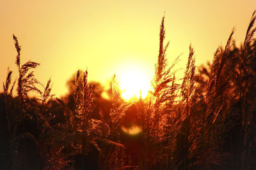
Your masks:
[[[198,96],[195,96],[195,57],[190,45],[188,63],[180,86],[179,120],[181,125],[177,134],[175,169],[186,169],[189,165],[189,148],[195,139],[197,128],[193,121],[194,115],[191,108],[198,100],[197,98]]]

